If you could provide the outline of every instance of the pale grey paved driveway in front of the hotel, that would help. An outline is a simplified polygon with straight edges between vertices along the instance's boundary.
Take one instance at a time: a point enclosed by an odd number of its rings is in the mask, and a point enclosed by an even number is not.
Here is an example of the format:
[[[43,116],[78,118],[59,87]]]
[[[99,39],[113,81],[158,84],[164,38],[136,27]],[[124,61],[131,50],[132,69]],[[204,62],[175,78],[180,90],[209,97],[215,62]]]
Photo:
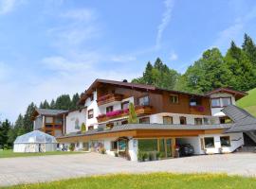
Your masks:
[[[136,163],[97,153],[0,159],[0,185],[109,173],[228,173],[256,176],[256,154],[195,156]]]

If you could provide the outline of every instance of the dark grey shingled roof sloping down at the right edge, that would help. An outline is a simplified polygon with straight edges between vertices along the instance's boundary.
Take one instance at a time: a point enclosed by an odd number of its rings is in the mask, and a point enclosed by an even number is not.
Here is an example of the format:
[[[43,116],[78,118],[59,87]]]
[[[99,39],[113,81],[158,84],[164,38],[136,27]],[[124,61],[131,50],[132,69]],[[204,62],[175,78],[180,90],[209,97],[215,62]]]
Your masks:
[[[256,130],[256,118],[245,110],[230,105],[224,108],[222,112],[227,114],[234,122],[233,126],[225,131],[226,133]]]

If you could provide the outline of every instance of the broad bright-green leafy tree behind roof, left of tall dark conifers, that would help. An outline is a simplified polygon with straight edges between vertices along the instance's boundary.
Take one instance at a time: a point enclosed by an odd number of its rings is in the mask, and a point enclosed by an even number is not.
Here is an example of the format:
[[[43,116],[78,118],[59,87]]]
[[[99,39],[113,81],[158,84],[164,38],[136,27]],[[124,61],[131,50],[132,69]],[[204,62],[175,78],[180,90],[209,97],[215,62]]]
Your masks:
[[[230,72],[218,48],[203,53],[186,73],[179,78],[176,90],[203,94],[219,87],[227,86]]]

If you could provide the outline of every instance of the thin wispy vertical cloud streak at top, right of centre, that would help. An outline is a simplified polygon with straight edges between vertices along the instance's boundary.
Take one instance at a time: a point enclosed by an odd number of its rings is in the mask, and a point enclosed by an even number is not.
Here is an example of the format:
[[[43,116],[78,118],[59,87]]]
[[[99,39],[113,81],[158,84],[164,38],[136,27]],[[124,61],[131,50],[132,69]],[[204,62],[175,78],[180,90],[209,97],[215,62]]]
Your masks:
[[[165,0],[164,4],[165,4],[165,11],[162,15],[161,23],[157,28],[156,42],[155,42],[156,49],[160,48],[163,31],[168,26],[171,20],[172,11],[174,9],[174,0]]]

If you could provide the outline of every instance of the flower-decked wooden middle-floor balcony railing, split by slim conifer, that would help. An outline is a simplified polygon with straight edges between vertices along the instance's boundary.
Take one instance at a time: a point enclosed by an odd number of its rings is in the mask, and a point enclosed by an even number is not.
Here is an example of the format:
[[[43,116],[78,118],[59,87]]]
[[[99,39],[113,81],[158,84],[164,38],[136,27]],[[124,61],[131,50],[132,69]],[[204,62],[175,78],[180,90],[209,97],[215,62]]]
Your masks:
[[[137,115],[146,115],[152,113],[152,106],[136,106],[135,107]],[[129,115],[129,110],[118,110],[113,112],[107,112],[106,114],[101,114],[97,117],[98,122],[106,122],[111,119],[116,119],[119,117],[124,117]]]

